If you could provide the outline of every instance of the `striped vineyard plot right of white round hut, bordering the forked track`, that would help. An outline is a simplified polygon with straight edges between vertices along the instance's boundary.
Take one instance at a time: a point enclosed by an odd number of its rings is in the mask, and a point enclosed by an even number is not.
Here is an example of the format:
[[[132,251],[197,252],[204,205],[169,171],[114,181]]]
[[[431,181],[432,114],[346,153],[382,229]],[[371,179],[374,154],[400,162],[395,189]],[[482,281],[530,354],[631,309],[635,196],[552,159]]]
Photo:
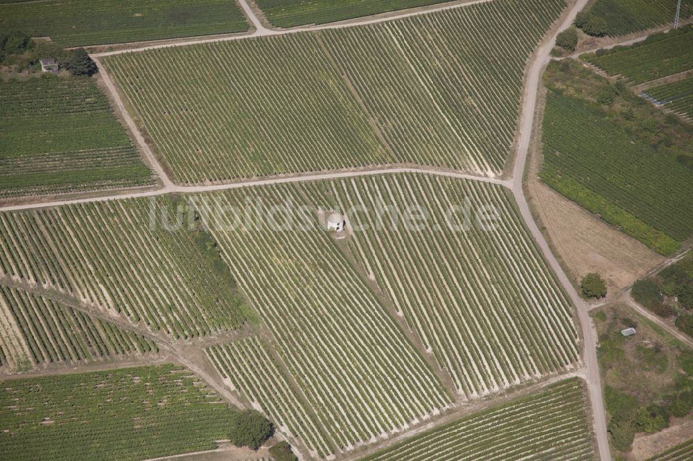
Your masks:
[[[499,392],[578,360],[570,304],[505,188],[388,175],[315,183],[305,194],[328,209],[369,210],[350,219],[366,229],[352,237],[351,253],[462,397]],[[468,225],[459,210],[450,215],[465,204],[473,213],[495,210],[497,227],[478,226],[475,217]],[[389,206],[425,209],[426,228],[380,226],[377,210]]]

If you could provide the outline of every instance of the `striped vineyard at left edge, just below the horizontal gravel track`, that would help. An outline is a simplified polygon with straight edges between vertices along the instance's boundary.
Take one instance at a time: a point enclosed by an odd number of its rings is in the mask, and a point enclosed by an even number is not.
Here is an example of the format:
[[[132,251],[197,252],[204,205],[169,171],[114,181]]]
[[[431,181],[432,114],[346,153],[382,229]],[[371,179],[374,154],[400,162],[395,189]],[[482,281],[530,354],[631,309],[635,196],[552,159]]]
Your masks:
[[[171,197],[0,214],[0,275],[173,338],[238,327],[242,301],[219,256],[187,226],[155,221],[159,212],[175,221]]]

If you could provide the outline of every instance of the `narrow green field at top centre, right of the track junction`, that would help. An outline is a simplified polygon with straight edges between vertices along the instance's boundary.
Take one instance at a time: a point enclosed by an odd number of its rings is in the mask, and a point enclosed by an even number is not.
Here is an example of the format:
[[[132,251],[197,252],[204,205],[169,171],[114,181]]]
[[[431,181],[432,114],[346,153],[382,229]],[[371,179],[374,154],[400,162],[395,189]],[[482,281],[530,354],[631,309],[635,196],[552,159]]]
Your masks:
[[[256,0],[265,17],[277,27],[325,24],[446,0]]]

